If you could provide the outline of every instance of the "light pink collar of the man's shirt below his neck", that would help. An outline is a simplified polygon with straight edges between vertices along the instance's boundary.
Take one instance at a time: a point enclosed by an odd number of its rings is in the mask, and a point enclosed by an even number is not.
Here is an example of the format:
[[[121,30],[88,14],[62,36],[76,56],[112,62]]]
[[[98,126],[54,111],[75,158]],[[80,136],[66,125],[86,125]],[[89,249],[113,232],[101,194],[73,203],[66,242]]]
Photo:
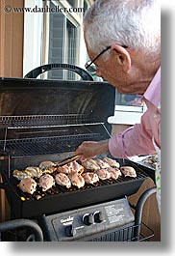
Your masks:
[[[156,107],[161,103],[161,67],[156,72],[153,80],[148,86],[143,98],[151,101]]]

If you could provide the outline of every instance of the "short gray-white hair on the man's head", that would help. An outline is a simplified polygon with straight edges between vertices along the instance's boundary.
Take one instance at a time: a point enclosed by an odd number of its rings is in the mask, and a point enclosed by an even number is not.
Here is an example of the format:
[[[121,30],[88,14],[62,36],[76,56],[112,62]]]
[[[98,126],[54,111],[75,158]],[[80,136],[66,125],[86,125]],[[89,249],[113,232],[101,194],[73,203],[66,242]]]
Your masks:
[[[89,49],[118,43],[145,53],[160,52],[159,0],[96,0],[84,17]]]

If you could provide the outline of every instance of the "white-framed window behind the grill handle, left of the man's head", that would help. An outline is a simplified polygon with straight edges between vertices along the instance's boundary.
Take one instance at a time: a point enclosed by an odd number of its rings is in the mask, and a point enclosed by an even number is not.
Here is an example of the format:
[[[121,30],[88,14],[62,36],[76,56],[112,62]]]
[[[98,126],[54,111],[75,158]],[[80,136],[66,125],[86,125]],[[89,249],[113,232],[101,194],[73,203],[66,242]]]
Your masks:
[[[83,15],[90,2],[36,0],[37,6],[42,9],[59,8],[62,12],[25,14],[24,75],[38,66],[52,63],[71,64],[85,69],[87,50],[83,36]],[[25,1],[25,7],[33,7],[33,4],[30,0]],[[75,80],[80,76],[73,71],[54,70],[43,73],[39,78]]]

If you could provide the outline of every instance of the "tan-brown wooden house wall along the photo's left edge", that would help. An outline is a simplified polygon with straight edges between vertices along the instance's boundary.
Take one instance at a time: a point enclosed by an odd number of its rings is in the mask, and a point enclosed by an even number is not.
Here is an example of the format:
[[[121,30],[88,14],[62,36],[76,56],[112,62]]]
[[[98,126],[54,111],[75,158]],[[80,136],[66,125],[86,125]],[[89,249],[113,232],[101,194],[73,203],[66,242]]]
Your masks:
[[[0,77],[22,77],[24,14],[13,7],[23,7],[24,0],[0,1]],[[7,13],[6,10],[12,11]],[[0,177],[1,180],[1,177]],[[0,189],[0,221],[9,218],[5,193]]]

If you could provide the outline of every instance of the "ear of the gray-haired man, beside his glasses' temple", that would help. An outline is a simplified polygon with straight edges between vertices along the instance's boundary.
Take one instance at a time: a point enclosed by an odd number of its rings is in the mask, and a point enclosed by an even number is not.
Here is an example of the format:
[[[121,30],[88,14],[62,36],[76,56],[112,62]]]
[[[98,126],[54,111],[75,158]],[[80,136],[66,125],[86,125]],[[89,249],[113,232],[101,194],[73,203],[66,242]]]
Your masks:
[[[113,44],[111,49],[116,54],[118,64],[123,66],[124,71],[129,71],[131,68],[131,57],[127,49],[118,44]]]

